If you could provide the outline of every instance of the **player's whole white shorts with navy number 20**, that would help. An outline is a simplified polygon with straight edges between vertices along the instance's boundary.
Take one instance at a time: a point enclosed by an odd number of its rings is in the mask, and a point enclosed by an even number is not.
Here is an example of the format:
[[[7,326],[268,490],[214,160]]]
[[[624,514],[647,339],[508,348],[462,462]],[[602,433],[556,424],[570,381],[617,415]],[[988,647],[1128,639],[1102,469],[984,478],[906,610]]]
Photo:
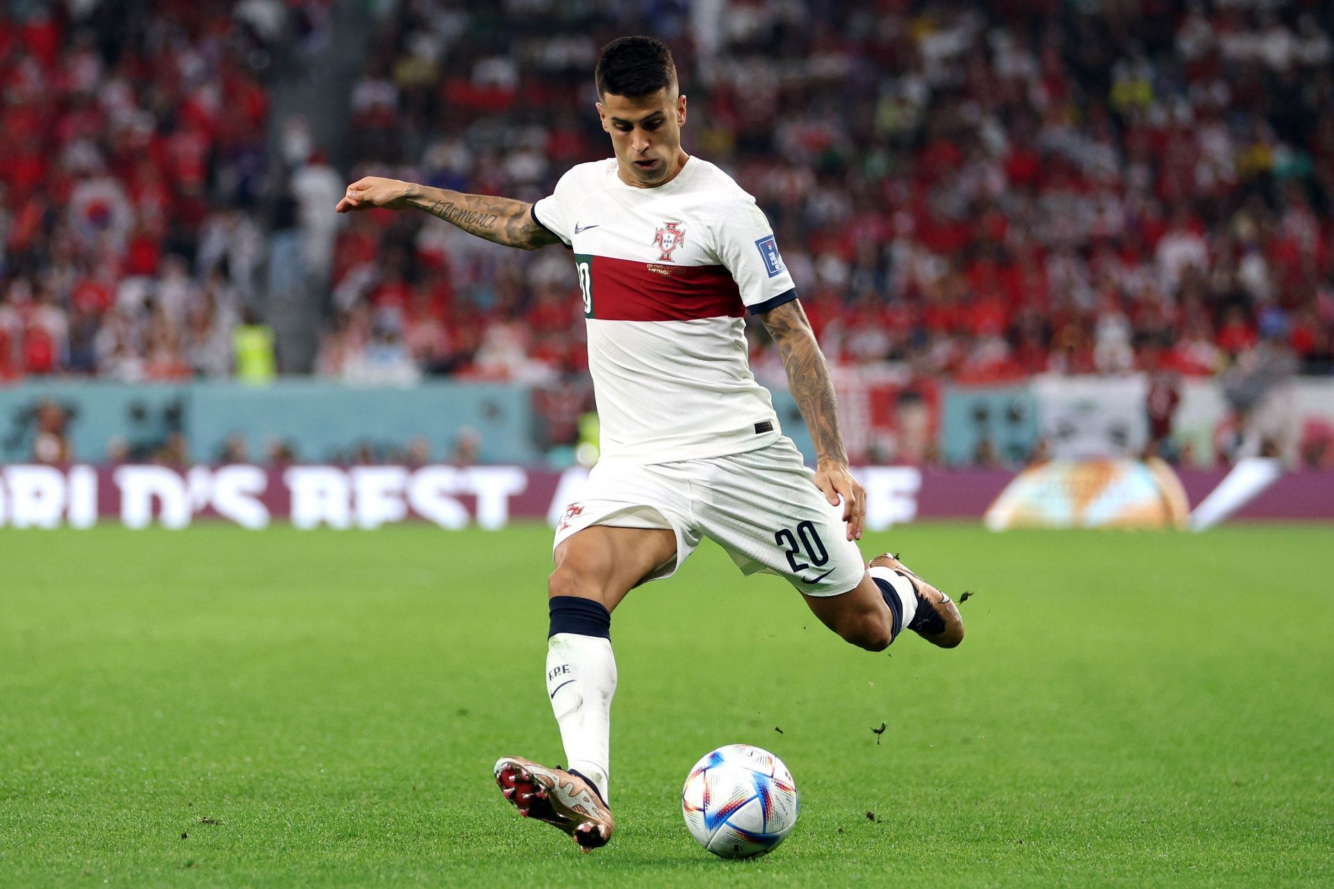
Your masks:
[[[591,525],[663,528],[676,534],[676,557],[644,580],[671,577],[708,537],[746,574],[779,574],[807,596],[838,596],[862,582],[866,562],[847,538],[843,506],[831,506],[814,478],[786,437],[707,460],[604,460],[588,473],[583,498],[566,506],[552,549]]]

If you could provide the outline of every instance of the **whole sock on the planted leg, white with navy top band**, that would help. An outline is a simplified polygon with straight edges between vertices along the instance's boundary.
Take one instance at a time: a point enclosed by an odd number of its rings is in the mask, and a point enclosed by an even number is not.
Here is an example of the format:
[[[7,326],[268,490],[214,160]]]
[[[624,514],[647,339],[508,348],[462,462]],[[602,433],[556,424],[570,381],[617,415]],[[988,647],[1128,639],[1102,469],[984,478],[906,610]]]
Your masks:
[[[547,694],[560,725],[570,764],[607,802],[611,760],[611,698],[616,658],[611,652],[611,613],[591,598],[554,596],[547,640]]]

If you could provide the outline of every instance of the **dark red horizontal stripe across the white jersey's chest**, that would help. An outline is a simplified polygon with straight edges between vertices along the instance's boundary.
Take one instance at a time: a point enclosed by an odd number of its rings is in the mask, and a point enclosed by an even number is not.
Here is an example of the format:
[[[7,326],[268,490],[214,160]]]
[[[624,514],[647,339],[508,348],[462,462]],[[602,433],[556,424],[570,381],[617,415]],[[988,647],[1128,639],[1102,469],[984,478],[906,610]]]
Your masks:
[[[576,257],[582,259],[582,257]],[[592,315],[603,321],[692,321],[746,313],[722,265],[635,263],[591,257]]]

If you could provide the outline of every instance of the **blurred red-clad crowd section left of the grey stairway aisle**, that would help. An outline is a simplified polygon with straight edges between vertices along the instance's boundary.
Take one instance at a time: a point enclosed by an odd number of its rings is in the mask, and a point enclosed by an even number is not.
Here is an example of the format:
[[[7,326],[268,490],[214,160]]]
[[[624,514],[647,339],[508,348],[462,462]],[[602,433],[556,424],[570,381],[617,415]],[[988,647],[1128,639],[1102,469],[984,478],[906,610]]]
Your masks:
[[[269,223],[264,7],[0,12],[0,381],[225,377],[237,348],[244,365]]]

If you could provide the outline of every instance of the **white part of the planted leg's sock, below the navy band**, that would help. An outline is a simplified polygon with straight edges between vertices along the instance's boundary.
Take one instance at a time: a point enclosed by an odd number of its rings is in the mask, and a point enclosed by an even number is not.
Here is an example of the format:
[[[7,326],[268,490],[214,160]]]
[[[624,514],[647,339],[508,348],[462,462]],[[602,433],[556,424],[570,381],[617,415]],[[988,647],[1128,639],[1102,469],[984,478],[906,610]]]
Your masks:
[[[560,725],[567,769],[584,776],[607,796],[611,762],[611,698],[616,693],[616,657],[611,640],[556,633],[547,640],[547,696]]]

